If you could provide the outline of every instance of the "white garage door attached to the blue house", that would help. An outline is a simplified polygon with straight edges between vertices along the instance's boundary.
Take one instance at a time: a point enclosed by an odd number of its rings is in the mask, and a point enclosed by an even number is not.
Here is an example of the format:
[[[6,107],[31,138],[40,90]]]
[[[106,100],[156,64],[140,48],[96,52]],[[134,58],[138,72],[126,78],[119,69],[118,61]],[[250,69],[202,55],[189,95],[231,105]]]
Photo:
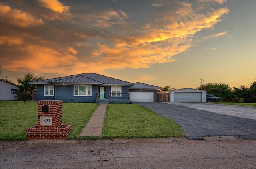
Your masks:
[[[154,102],[154,92],[129,92],[132,102]]]

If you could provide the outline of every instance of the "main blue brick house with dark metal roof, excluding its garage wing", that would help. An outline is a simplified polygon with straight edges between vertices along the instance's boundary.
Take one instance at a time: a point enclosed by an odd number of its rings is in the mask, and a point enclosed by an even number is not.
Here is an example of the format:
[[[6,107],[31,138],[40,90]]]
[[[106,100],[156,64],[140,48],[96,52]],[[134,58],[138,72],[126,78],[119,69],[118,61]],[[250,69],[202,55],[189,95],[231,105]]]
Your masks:
[[[125,102],[130,103],[129,88],[133,83],[97,73],[82,73],[29,84],[37,85],[37,100],[63,102]]]

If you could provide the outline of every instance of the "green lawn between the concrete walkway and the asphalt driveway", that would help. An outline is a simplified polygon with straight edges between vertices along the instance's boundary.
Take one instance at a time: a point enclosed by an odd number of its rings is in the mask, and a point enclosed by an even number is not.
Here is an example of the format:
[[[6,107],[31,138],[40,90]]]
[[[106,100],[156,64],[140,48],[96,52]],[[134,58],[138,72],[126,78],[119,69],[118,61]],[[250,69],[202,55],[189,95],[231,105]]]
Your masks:
[[[108,138],[181,137],[182,128],[136,104],[108,104],[103,136]]]

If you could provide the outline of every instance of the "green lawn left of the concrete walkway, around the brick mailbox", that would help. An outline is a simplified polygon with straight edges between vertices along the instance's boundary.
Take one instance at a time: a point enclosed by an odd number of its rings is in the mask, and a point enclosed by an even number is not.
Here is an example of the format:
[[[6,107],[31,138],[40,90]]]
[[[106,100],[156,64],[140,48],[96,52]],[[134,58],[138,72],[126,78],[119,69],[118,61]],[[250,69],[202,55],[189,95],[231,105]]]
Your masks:
[[[75,138],[97,108],[95,103],[63,103],[62,124],[71,124],[67,139]],[[0,102],[0,140],[24,140],[26,128],[37,124],[37,103]]]

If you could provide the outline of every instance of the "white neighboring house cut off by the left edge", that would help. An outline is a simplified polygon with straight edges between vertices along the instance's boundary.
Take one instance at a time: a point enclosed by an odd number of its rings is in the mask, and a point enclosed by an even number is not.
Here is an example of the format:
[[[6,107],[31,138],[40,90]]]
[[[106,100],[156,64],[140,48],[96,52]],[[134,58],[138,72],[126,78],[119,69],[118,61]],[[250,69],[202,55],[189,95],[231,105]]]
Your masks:
[[[0,79],[0,100],[18,100],[18,85]]]

